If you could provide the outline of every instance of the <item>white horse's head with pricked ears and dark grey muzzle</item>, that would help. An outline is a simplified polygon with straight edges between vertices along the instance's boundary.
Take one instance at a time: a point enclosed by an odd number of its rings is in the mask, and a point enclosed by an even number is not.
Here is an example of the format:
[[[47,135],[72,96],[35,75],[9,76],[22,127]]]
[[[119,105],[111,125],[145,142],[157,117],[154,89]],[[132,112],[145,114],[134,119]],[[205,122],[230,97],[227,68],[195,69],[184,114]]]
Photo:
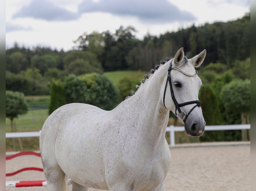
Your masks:
[[[202,81],[195,70],[195,67],[201,66],[205,57],[206,50],[203,50],[187,59],[183,48],[180,48],[175,57],[166,63],[169,66],[167,80],[161,88],[163,105],[183,122],[185,132],[195,137],[203,135],[205,130],[205,120],[198,100]]]

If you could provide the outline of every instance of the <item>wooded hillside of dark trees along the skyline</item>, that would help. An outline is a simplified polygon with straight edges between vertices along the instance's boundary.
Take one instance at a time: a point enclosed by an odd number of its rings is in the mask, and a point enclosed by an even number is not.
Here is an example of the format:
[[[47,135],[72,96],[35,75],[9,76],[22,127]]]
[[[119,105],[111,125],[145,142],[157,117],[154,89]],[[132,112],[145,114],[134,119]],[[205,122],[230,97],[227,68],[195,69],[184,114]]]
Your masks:
[[[228,69],[250,57],[250,13],[227,23],[191,26],[159,37],[135,38],[136,29],[120,27],[115,34],[105,31],[82,34],[74,41],[74,50],[45,47],[25,48],[15,44],[6,50],[6,90],[25,95],[49,95],[53,80],[69,74],[119,70],[149,71],[160,60],[168,60],[180,47],[186,56],[207,50],[204,67],[222,63]]]

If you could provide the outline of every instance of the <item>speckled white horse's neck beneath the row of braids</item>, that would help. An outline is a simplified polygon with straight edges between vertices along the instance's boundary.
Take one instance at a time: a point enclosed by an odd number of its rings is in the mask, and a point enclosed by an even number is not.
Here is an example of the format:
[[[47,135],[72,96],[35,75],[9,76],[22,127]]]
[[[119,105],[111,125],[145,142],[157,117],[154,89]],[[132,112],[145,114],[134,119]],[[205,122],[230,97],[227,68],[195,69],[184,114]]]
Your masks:
[[[130,127],[139,128],[144,140],[156,147],[161,140],[164,140],[169,117],[169,110],[164,107],[163,97],[160,94],[166,78],[167,69],[166,72],[156,71],[140,86],[135,95],[118,106],[129,112],[126,118],[129,117],[129,121],[134,123]]]

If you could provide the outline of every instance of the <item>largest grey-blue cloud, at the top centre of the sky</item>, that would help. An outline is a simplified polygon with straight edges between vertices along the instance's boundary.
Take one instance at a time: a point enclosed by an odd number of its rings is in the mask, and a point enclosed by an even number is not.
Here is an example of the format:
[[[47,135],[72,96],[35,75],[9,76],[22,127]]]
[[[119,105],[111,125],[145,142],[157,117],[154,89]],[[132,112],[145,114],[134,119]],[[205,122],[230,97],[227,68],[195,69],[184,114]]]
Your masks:
[[[79,5],[79,12],[106,12],[118,16],[134,16],[143,22],[170,23],[175,21],[193,21],[195,17],[189,11],[179,8],[167,0],[84,0]]]

